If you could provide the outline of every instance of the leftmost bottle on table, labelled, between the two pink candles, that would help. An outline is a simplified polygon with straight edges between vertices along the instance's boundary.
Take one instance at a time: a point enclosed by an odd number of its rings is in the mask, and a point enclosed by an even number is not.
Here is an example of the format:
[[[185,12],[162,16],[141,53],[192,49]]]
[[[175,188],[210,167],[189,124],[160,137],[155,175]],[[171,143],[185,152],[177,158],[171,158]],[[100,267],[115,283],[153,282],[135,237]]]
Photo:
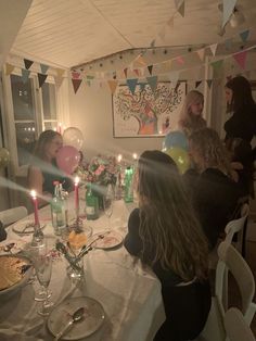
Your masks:
[[[54,181],[54,195],[51,200],[51,215],[54,233],[61,236],[61,230],[66,226],[65,200],[62,197],[59,181]]]

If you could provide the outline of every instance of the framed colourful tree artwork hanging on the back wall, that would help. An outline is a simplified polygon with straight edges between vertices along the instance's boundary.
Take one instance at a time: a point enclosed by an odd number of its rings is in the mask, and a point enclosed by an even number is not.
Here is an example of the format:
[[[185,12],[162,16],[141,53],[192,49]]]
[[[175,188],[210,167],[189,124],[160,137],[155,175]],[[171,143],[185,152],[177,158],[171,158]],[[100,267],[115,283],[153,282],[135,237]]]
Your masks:
[[[185,81],[176,88],[159,81],[154,92],[148,84],[137,84],[133,94],[127,85],[119,85],[112,97],[114,137],[164,136],[178,121],[185,92]]]

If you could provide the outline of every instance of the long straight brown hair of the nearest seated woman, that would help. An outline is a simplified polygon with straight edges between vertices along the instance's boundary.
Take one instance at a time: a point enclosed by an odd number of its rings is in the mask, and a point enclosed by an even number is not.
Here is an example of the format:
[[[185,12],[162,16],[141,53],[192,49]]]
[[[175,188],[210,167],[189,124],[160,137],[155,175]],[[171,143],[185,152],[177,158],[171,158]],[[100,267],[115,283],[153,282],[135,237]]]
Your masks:
[[[187,281],[205,278],[207,241],[175,162],[161,151],[145,151],[138,175],[142,260],[150,265],[159,262]]]

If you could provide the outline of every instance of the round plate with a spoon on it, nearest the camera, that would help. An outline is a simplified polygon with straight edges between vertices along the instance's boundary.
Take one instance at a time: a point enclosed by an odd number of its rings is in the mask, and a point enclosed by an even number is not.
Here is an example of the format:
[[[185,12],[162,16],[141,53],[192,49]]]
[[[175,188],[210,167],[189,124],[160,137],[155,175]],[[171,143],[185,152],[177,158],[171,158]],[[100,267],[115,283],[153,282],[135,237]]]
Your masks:
[[[79,307],[85,308],[85,316],[63,334],[63,340],[79,340],[89,337],[103,324],[105,313],[100,302],[88,298],[74,298],[63,301],[50,314],[48,328],[53,336],[56,336],[71,319],[71,316]]]

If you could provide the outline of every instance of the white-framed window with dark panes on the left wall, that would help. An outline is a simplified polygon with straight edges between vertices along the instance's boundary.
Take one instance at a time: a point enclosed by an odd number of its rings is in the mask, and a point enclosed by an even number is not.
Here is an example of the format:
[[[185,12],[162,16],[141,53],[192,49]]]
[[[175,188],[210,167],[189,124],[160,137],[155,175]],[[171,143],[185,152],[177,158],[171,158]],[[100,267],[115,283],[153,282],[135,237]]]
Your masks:
[[[13,117],[17,148],[17,165],[29,163],[30,154],[40,132],[57,127],[55,86],[44,83],[37,89],[37,77],[26,83],[11,75]]]

